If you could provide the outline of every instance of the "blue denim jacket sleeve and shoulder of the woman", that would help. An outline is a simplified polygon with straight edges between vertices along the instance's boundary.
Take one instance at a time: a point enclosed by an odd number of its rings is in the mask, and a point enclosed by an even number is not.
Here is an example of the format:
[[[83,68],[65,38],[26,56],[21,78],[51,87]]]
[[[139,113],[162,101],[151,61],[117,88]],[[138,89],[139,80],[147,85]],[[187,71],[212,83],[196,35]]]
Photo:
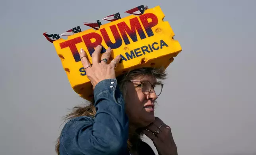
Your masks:
[[[94,89],[95,118],[82,116],[66,123],[60,135],[60,155],[129,155],[128,117],[116,79]]]

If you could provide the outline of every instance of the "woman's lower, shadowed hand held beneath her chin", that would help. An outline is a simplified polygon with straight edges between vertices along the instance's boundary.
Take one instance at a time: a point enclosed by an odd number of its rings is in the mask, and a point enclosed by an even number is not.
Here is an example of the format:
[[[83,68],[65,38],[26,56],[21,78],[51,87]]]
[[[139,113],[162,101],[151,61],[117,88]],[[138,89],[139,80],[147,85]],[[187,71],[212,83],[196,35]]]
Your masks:
[[[153,141],[159,155],[178,155],[171,128],[158,117],[143,133]]]

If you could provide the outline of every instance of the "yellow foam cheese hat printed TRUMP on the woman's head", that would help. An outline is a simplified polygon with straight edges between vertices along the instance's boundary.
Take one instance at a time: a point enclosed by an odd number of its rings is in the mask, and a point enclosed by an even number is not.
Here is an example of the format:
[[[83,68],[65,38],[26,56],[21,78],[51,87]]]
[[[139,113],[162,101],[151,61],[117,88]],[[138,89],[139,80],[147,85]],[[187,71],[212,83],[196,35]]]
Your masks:
[[[141,67],[165,67],[174,60],[182,50],[159,6],[145,10],[143,15],[130,15],[116,21],[101,25],[99,30],[85,30],[68,36],[67,40],[53,42],[57,54],[61,55],[62,66],[68,80],[76,93],[91,100],[93,89],[91,82],[81,64],[79,51],[85,50],[92,63],[91,54],[98,44],[103,46],[101,53],[108,47],[113,49],[112,58],[121,56],[116,76],[130,69]],[[63,59],[65,58],[65,59]]]

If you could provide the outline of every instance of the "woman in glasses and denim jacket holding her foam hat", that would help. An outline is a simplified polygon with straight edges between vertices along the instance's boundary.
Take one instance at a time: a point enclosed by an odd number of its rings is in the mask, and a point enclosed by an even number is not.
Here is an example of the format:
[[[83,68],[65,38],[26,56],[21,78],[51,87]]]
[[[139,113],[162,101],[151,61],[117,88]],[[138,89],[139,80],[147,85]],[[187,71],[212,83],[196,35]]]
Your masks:
[[[56,144],[58,155],[155,155],[142,142],[143,134],[153,141],[159,155],[177,155],[170,127],[154,116],[155,100],[163,87],[157,79],[165,79],[165,72],[140,68],[116,78],[114,68],[120,56],[108,62],[109,48],[99,61],[101,49],[101,45],[95,48],[93,65],[81,49],[94,101],[67,115]]]

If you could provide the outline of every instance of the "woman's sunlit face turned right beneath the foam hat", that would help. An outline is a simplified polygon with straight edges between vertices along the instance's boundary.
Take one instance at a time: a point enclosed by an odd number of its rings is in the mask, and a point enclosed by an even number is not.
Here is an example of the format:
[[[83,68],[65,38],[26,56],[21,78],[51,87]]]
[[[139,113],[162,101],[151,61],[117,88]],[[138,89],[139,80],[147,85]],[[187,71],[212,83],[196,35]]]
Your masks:
[[[155,84],[157,79],[153,76],[142,76],[134,80],[149,81]],[[143,85],[143,89],[145,84]],[[145,90],[143,90],[145,92]],[[140,82],[129,82],[126,95],[126,113],[129,117],[130,125],[137,128],[146,127],[155,120],[154,106],[157,95],[153,88],[147,94],[143,93]]]

